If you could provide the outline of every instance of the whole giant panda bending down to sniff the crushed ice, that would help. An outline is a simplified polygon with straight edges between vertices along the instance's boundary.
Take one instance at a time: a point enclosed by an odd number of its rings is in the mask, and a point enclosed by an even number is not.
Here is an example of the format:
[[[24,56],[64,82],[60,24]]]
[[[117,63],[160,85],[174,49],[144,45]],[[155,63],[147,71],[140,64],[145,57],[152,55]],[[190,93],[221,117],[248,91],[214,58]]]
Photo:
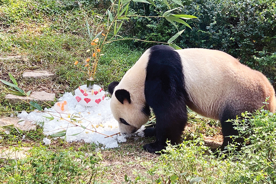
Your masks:
[[[260,73],[218,50],[188,48],[173,50],[155,45],[145,51],[121,82],[111,82],[110,108],[122,134],[131,134],[148,121],[151,107],[155,128],[146,128],[145,136],[154,143],[143,148],[155,153],[166,140],[178,143],[187,122],[186,105],[203,116],[219,120],[224,137],[221,149],[237,135],[228,119],[263,106],[275,112],[275,92]],[[265,107],[266,108],[266,107]],[[241,142],[243,140],[236,140]]]

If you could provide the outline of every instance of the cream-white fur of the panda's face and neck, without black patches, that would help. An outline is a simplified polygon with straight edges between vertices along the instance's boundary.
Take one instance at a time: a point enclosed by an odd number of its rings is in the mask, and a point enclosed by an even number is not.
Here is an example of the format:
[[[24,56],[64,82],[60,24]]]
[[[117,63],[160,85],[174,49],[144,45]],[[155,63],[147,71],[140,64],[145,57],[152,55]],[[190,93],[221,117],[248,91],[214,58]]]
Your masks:
[[[122,78],[121,82],[114,88],[111,97],[110,107],[114,118],[119,122],[119,129],[122,134],[130,134],[136,128],[140,128],[148,121],[148,116],[142,113],[145,106],[145,79],[146,67],[148,64],[149,49],[139,58]],[[131,104],[124,100],[121,104],[116,99],[115,91],[125,89],[130,93]],[[126,120],[131,126],[120,123],[119,118]]]

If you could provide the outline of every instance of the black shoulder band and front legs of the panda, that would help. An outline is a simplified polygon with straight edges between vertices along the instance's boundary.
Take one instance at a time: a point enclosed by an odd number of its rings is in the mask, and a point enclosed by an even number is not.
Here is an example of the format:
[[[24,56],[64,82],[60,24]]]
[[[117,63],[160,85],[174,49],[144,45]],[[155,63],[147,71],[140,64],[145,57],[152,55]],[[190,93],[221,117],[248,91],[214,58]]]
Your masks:
[[[172,47],[151,47],[145,79],[145,98],[156,115],[156,127],[146,129],[148,136],[155,134],[156,141],[146,144],[150,153],[161,151],[166,140],[178,143],[187,122],[187,92],[180,56]]]

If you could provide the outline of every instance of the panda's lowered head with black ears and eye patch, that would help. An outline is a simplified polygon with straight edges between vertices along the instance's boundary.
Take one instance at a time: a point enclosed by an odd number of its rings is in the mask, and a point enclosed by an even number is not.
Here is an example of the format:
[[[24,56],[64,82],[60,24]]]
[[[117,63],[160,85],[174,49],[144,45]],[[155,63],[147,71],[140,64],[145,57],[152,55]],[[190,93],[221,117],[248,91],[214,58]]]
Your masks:
[[[139,102],[130,90],[120,89],[119,82],[111,82],[108,91],[112,94],[110,109],[115,120],[119,123],[122,134],[135,133],[148,121],[150,110],[145,102]]]

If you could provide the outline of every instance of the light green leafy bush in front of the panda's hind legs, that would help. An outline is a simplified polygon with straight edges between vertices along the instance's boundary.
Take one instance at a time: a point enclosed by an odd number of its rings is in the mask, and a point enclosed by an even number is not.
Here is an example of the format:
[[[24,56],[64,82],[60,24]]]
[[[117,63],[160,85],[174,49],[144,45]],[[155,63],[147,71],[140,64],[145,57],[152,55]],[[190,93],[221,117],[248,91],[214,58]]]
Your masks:
[[[221,152],[216,158],[204,146],[202,137],[179,145],[168,143],[165,154],[153,166],[152,162],[142,163],[149,168],[152,183],[276,183],[276,114],[261,109],[243,113],[242,117],[231,120],[237,125],[239,137],[247,134],[246,141],[251,143],[242,151],[235,152],[236,145],[230,144],[227,157]],[[137,178],[147,180],[142,175]]]

